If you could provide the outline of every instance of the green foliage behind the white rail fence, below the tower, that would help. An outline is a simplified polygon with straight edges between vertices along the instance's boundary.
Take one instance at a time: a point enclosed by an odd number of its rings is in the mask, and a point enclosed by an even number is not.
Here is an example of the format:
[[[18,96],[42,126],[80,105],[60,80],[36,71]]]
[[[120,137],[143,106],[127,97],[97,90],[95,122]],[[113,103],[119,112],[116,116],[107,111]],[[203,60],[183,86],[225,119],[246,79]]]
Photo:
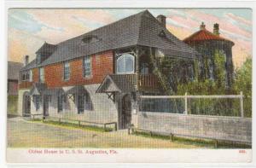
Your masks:
[[[239,95],[243,92],[245,117],[252,117],[252,59],[247,59],[243,66],[236,70],[234,84],[229,90],[226,88],[224,54],[216,51],[214,55],[215,80],[200,80],[177,85],[177,95]],[[197,69],[197,68],[195,68]],[[191,100],[189,113],[210,114],[224,116],[240,116],[240,100]]]

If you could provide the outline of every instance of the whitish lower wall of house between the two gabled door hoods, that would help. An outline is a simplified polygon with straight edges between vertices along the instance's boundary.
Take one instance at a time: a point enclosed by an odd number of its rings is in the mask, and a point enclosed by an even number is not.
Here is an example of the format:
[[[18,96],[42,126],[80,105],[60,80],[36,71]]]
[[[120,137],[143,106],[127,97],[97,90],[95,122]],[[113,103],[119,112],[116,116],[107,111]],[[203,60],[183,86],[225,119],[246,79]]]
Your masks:
[[[78,113],[77,100],[73,101],[71,98],[66,98],[66,103],[63,103],[63,111],[58,112],[57,95],[51,97],[49,102],[49,116],[61,117],[64,119],[80,119],[91,122],[117,122],[118,113],[115,103],[108,99],[106,94],[96,93],[99,84],[86,84],[85,90],[90,94],[92,101],[92,110],[85,110],[84,113]],[[68,90],[71,87],[64,87],[64,90]]]

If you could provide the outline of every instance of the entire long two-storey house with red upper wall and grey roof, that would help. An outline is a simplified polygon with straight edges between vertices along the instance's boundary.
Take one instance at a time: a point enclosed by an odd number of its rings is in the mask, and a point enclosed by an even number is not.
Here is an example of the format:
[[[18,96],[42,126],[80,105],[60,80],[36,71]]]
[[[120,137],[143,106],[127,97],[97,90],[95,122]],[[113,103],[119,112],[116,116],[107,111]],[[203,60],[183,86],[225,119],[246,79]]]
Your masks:
[[[197,52],[168,32],[165,16],[145,10],[77,38],[44,43],[36,54],[20,70],[20,114],[117,122],[125,129],[137,125],[137,97],[161,93],[152,61],[191,61]]]

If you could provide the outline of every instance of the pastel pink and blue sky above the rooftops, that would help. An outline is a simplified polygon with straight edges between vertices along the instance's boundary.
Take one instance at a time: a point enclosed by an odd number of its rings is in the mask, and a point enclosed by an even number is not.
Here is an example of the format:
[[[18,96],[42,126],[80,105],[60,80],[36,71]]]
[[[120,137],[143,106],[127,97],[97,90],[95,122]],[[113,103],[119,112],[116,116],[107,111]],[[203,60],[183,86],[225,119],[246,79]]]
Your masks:
[[[61,43],[90,32],[144,9],[9,9],[9,61],[23,62],[24,55],[35,58],[35,52],[47,43]],[[212,32],[219,24],[220,36],[235,43],[233,61],[241,67],[252,56],[251,9],[148,9],[155,17],[166,15],[166,28],[183,40],[199,30],[201,22]]]

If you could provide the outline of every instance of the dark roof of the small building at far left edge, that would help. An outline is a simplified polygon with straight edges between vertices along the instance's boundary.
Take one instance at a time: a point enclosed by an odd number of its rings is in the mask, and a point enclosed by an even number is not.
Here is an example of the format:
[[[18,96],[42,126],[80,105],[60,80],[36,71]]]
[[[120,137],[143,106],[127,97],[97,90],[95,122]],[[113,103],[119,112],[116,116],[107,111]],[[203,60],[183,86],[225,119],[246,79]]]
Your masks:
[[[19,80],[21,67],[23,64],[20,62],[8,61],[8,79]]]

